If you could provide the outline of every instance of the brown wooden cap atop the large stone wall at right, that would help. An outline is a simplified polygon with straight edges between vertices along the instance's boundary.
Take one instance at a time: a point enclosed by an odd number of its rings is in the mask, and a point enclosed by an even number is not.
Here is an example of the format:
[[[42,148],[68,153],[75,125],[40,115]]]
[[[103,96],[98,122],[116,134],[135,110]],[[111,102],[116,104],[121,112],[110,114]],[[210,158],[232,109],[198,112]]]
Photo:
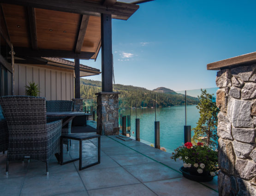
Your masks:
[[[252,65],[256,63],[256,52],[220,60],[207,65],[207,70],[220,70],[224,68]]]

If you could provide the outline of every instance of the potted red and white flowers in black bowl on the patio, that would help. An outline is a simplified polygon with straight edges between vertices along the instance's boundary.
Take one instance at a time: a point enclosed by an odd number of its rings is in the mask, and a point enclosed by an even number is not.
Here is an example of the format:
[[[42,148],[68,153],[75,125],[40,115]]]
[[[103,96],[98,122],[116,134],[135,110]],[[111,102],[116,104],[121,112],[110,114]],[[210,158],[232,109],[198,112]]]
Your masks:
[[[173,152],[171,159],[183,160],[180,171],[185,178],[207,182],[213,179],[218,171],[218,153],[203,143],[193,145],[190,142],[179,146]]]

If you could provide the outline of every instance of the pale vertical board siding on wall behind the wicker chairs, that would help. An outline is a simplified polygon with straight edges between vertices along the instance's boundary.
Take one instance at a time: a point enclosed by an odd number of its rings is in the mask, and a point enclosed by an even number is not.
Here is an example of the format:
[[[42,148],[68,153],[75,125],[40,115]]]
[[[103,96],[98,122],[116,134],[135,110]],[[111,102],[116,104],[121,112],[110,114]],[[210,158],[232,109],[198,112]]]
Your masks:
[[[38,84],[46,100],[71,100],[74,97],[74,73],[43,67],[14,64],[14,95],[26,95],[26,85]]]

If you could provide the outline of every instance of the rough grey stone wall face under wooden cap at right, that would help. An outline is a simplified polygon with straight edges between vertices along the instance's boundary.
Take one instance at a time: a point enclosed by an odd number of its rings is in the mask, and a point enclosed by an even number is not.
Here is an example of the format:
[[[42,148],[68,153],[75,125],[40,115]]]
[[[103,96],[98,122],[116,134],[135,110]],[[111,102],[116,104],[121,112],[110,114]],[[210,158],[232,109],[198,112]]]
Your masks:
[[[256,196],[256,64],[217,72],[220,196]]]

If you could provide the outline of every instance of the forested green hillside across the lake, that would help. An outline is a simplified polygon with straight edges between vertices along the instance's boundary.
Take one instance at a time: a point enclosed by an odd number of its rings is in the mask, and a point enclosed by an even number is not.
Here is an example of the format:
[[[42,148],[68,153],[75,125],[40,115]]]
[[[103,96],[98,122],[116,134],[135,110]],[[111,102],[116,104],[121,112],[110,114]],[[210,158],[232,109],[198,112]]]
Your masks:
[[[81,78],[80,84],[81,97],[84,99],[96,100],[95,93],[101,92],[101,82]],[[136,96],[137,107],[155,107],[155,94],[157,107],[170,107],[185,104],[185,95],[183,94],[156,93],[145,88],[122,84],[114,84],[113,89],[114,91],[121,93],[119,95],[120,98],[131,97],[131,107],[136,107]],[[187,97],[188,105],[197,104],[198,101],[199,100],[196,97]],[[121,107],[129,107],[130,105],[130,101],[127,99],[120,102],[122,102]]]

